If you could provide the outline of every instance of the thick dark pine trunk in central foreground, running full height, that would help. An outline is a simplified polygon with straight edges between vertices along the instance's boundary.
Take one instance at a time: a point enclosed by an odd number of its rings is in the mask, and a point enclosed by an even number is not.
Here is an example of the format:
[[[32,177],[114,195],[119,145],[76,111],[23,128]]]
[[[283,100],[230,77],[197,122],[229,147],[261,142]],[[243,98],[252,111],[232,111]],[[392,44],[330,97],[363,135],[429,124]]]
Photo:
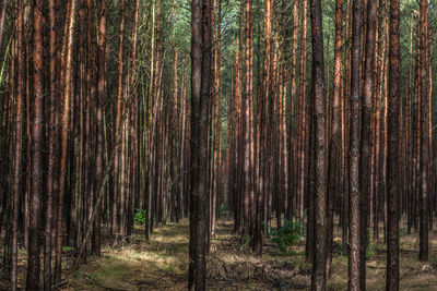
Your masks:
[[[208,123],[211,93],[211,0],[191,3],[191,194],[189,290],[206,288]]]

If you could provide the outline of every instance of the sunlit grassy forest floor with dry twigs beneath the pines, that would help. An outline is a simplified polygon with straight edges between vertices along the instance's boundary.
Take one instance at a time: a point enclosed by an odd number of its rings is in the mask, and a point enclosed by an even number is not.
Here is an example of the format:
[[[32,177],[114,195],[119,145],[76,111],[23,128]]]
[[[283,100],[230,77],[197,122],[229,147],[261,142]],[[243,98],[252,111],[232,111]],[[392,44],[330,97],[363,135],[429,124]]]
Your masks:
[[[216,238],[208,256],[209,290],[308,290],[310,264],[305,262],[305,242],[293,255],[282,253],[264,239],[258,258],[233,235],[232,220],[218,220]],[[429,232],[429,262],[417,260],[417,234],[401,228],[401,290],[437,290],[437,232]],[[338,233],[340,234],[340,233]],[[340,239],[335,239],[340,242]],[[103,248],[102,257],[90,258],[67,277],[64,290],[186,290],[188,272],[188,220],[160,226],[147,243],[135,229],[130,243],[115,242]],[[328,290],[345,290],[347,256],[334,247],[332,278]],[[385,290],[386,250],[382,242],[370,243],[367,289]]]

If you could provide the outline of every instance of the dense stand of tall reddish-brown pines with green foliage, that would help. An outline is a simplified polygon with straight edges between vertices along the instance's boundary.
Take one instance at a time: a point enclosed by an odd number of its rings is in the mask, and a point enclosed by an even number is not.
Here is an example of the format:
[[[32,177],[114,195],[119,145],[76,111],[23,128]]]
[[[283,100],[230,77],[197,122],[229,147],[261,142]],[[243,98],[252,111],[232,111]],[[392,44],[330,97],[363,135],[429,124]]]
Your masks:
[[[102,247],[152,244],[186,218],[191,290],[206,288],[218,221],[258,257],[300,245],[314,290],[339,253],[350,290],[365,289],[373,244],[387,290],[406,248],[436,258],[433,2],[0,9],[4,289],[68,288]],[[417,243],[400,254],[402,235]]]

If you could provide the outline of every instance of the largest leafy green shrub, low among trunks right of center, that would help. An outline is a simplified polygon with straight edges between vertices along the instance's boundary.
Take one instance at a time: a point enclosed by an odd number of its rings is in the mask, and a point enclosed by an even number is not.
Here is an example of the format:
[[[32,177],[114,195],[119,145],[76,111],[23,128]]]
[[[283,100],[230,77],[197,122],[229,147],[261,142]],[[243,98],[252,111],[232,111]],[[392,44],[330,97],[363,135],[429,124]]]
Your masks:
[[[305,237],[305,228],[299,221],[284,219],[284,225],[277,230],[271,230],[271,239],[277,244],[281,252],[294,254],[290,248],[299,243]]]

